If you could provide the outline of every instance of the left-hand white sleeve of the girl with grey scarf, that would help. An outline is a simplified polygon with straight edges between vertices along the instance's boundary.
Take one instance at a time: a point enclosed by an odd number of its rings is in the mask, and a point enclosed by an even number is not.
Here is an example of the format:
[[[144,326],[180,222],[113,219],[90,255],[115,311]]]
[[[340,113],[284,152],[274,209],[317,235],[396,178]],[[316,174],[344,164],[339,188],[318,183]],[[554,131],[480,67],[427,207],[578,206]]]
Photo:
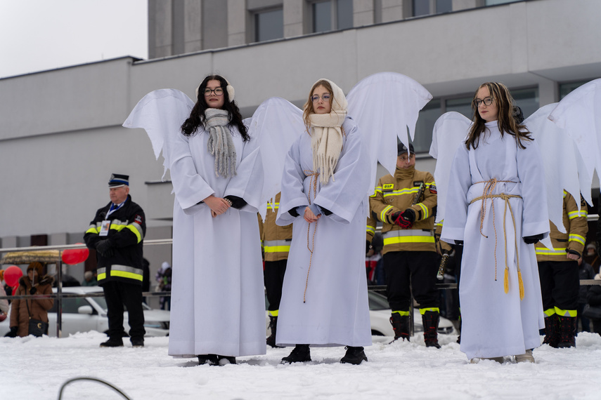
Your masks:
[[[205,133],[199,131],[196,134]],[[163,151],[165,150],[169,154],[167,159],[170,161],[169,171],[171,171],[173,190],[183,212],[189,215],[205,208],[206,204],[198,203],[214,194],[214,190],[198,174],[190,153],[188,137],[181,131],[174,133],[172,140],[165,141]]]

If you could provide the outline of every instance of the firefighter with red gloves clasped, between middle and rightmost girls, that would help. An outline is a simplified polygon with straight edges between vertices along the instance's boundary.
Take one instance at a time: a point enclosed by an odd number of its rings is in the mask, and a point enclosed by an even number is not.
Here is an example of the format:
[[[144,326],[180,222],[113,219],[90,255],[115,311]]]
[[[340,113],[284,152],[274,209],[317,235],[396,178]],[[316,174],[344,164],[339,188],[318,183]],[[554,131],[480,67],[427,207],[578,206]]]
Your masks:
[[[415,170],[413,145],[407,149],[399,143],[397,154],[394,176],[380,178],[370,196],[371,215],[382,222],[390,323],[395,340],[409,340],[411,284],[413,297],[420,304],[426,346],[440,348],[438,255],[434,242],[436,185],[431,173]],[[368,235],[370,226],[375,223],[368,222]]]

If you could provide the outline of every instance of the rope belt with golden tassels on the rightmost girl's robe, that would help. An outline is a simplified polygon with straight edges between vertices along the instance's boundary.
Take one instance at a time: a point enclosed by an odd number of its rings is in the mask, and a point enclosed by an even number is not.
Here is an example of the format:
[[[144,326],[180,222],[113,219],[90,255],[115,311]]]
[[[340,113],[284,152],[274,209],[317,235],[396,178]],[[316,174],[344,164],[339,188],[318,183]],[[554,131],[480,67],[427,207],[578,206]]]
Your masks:
[[[522,272],[519,269],[519,254],[517,251],[517,229],[515,228],[515,216],[513,215],[513,210],[511,208],[511,204],[509,202],[509,199],[511,199],[512,197],[522,199],[522,196],[519,196],[517,194],[505,194],[505,193],[492,194],[493,190],[495,189],[495,187],[497,185],[497,182],[517,183],[517,182],[513,182],[512,180],[496,180],[496,178],[492,178],[491,180],[476,182],[476,183],[484,183],[484,190],[482,191],[482,196],[476,197],[475,199],[470,201],[470,204],[473,204],[476,201],[482,200],[482,207],[480,209],[480,234],[482,234],[482,236],[488,238],[489,236],[486,236],[485,234],[482,233],[482,227],[484,225],[484,216],[486,215],[486,200],[500,198],[505,201],[505,208],[503,210],[503,237],[505,239],[505,276],[503,279],[503,288],[505,289],[505,293],[509,293],[509,266],[508,266],[508,262],[507,262],[507,231],[505,229],[505,221],[506,221],[505,217],[507,215],[507,208],[509,207],[509,212],[511,214],[511,219],[513,221],[515,258],[517,261],[517,280],[518,280],[518,284],[519,284],[519,300],[524,300],[524,281],[522,281]],[[495,232],[495,253],[494,253],[494,255],[495,255],[495,281],[496,281],[497,280],[497,229],[496,229],[496,225],[495,225],[495,204],[494,204],[494,202],[492,202],[492,204],[491,204],[491,211],[493,213],[493,229]]]

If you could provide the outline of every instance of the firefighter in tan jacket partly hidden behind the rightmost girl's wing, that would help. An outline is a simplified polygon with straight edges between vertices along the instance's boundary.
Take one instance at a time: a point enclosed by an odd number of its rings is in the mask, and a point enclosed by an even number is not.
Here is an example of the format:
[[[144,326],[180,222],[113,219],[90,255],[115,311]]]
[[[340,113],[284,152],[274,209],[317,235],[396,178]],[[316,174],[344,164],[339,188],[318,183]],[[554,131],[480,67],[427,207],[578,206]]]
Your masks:
[[[576,309],[580,291],[578,259],[581,257],[588,233],[588,207],[564,191],[563,223],[566,233],[551,226],[552,249],[540,241],[535,245],[538,276],[541,278],[545,339],[551,347],[575,347]]]

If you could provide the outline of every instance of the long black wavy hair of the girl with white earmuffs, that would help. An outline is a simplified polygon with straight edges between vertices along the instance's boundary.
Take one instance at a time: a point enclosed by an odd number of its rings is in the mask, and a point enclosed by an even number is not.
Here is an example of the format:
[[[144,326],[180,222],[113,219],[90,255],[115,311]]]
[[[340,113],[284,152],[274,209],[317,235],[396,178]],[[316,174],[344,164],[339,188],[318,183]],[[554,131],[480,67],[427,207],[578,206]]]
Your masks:
[[[184,121],[181,125],[181,133],[186,136],[193,136],[198,131],[199,126],[201,126],[203,129],[207,128],[205,125],[205,122],[207,121],[205,110],[209,108],[209,105],[207,105],[207,102],[205,101],[205,88],[207,88],[209,81],[213,80],[219,81],[221,88],[224,89],[224,107],[222,109],[228,112],[229,124],[238,128],[243,140],[247,142],[250,140],[250,136],[248,135],[248,130],[242,121],[242,114],[240,114],[240,109],[238,109],[238,105],[236,105],[235,101],[230,101],[228,91],[226,90],[228,81],[226,81],[226,79],[221,75],[209,75],[202,80],[202,83],[198,88],[196,104],[190,112],[188,119],[186,119],[186,121]]]

